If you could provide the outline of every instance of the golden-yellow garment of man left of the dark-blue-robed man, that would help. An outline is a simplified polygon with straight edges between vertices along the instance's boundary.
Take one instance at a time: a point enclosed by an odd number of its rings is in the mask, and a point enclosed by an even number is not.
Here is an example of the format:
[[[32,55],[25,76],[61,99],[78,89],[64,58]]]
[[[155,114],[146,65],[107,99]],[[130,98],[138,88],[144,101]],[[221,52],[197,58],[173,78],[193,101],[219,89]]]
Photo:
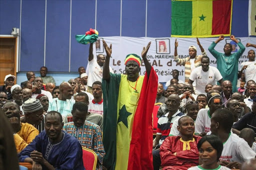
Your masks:
[[[21,129],[13,136],[17,153],[21,152],[39,134],[39,131],[28,123],[21,123]]]

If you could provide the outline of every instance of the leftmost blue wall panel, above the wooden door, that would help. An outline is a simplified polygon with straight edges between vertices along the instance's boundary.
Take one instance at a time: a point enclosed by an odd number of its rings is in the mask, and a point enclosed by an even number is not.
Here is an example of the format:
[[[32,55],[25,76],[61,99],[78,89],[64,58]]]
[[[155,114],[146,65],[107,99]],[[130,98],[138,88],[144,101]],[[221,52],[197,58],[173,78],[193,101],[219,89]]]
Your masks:
[[[0,0],[0,34],[10,35],[13,27],[19,28],[19,14],[19,0]]]

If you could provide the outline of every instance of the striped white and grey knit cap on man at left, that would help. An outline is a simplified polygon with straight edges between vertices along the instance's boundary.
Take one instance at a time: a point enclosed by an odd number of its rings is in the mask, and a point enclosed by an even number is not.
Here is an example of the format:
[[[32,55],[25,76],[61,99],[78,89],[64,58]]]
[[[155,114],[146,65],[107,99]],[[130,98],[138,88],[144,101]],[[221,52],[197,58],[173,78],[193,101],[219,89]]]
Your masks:
[[[29,98],[28,100],[23,102],[22,108],[24,113],[35,112],[42,109],[42,105],[38,99]]]

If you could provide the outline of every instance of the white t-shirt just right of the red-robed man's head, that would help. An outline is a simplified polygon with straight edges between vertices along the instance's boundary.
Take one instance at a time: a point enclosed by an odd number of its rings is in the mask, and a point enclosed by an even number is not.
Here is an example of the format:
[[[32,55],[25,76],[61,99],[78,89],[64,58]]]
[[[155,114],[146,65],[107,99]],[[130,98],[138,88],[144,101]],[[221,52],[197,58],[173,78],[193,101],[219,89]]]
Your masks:
[[[210,132],[210,115],[209,108],[200,109],[197,113],[197,117],[195,120],[195,134]]]

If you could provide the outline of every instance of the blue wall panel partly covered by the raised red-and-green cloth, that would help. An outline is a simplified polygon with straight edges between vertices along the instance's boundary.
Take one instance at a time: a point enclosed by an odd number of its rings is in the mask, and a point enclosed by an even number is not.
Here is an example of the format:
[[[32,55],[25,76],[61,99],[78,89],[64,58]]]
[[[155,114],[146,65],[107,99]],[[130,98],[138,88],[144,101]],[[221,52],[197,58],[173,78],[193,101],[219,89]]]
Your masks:
[[[81,12],[85,8],[86,12]],[[88,62],[89,44],[79,44],[75,35],[84,34],[94,25],[95,0],[72,0],[70,72],[77,72],[80,66],[85,68]]]

